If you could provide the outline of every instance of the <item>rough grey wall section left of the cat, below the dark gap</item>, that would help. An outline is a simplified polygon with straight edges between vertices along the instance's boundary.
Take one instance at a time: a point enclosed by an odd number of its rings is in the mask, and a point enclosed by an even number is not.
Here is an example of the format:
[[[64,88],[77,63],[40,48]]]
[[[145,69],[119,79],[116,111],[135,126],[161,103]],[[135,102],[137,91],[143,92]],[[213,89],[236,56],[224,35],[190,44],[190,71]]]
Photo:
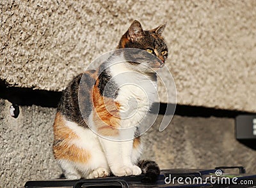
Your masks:
[[[61,174],[52,155],[54,108],[20,106],[17,119],[0,99],[0,187],[22,187],[28,180]]]

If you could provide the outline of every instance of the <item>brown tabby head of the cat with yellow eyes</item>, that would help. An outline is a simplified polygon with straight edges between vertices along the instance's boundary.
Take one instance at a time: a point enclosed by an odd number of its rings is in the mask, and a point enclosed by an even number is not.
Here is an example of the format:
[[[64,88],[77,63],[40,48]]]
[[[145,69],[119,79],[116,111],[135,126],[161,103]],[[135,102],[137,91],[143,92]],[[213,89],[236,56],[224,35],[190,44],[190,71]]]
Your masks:
[[[118,48],[137,48],[143,50],[143,53],[136,53],[137,55],[134,57],[137,59],[144,58],[146,61],[147,59],[154,59],[154,61],[147,61],[148,68],[161,68],[168,57],[168,48],[161,36],[165,26],[166,24],[163,24],[159,25],[159,27],[156,27],[155,29],[144,31],[140,22],[135,20],[132,22],[128,31],[122,36]],[[145,51],[147,51],[147,53],[145,53]],[[133,69],[140,69],[140,71],[148,71],[147,69],[142,68],[138,62],[133,62],[129,66]]]

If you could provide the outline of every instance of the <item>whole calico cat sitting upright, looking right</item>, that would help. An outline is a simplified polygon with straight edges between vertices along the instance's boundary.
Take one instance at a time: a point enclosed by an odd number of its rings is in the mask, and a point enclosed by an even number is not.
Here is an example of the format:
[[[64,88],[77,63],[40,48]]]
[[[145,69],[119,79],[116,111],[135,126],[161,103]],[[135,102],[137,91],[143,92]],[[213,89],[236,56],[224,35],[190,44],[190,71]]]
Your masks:
[[[161,36],[164,27],[165,24],[150,31],[143,31],[140,22],[135,20],[117,47],[147,51],[146,54],[154,55],[158,61],[148,62],[147,66],[143,66],[140,62],[125,61],[131,54],[118,52],[119,61],[122,59],[122,63],[109,66],[113,61],[113,58],[110,58],[98,69],[76,76],[63,91],[53,125],[53,152],[66,178],[98,178],[111,174],[127,176],[143,173],[146,174],[145,181],[156,180],[159,175],[157,164],[154,161],[138,161],[142,150],[141,138],[138,136],[140,128],[133,125],[134,122],[140,122],[150,110],[157,94],[154,71],[164,65],[168,56],[168,48]],[[124,76],[116,76],[122,74]],[[148,93],[147,98],[136,87],[121,87],[122,79],[144,85]],[[81,91],[79,84],[82,80]],[[107,84],[110,85],[108,88]],[[132,117],[123,118],[127,115],[126,108],[130,98],[140,101],[136,106],[137,111]],[[83,106],[79,106],[79,100],[83,101]],[[93,128],[95,133],[89,127]],[[123,134],[120,129],[116,129],[120,127],[132,128]],[[115,141],[128,134],[134,136],[134,139]]]

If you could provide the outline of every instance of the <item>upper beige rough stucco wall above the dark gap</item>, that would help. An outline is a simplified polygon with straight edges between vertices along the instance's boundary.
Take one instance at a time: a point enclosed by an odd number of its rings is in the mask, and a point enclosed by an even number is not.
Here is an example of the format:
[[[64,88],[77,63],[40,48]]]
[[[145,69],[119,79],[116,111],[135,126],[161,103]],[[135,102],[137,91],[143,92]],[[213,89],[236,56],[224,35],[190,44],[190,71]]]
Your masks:
[[[177,102],[256,112],[254,0],[0,2],[0,79],[10,85],[62,90],[132,20],[145,29],[168,22]]]

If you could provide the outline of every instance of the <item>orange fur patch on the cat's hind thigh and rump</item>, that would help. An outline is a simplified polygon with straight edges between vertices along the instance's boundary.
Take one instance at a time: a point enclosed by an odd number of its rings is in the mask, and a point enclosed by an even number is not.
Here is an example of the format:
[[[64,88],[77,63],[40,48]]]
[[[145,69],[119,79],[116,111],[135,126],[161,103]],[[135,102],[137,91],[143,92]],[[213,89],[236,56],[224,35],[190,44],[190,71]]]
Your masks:
[[[72,140],[79,137],[70,128],[65,126],[65,120],[59,112],[56,113],[53,129],[53,154],[55,159],[67,159],[77,163],[88,162],[91,157],[90,152],[71,143]]]

